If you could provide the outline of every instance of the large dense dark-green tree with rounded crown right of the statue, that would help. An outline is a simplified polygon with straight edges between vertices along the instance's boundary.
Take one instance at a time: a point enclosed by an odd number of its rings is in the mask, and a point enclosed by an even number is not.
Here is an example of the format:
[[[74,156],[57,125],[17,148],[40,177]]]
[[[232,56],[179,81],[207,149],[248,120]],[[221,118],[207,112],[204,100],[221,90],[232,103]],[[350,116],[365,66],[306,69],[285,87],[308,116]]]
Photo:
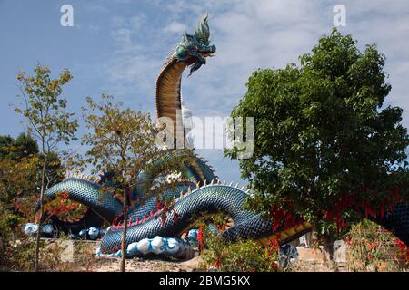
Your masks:
[[[409,139],[403,110],[384,106],[384,61],[334,29],[299,65],[253,73],[231,114],[254,117],[254,155],[240,160],[250,208],[310,221],[328,244],[348,222],[382,217],[402,199]]]

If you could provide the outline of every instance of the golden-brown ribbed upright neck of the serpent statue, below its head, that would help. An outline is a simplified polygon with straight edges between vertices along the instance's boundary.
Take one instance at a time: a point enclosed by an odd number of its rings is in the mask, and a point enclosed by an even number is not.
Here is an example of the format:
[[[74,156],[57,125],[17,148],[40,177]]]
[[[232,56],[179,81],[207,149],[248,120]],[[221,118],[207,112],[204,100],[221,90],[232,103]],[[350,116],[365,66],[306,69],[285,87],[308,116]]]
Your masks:
[[[167,117],[173,121],[174,138],[178,144],[185,142],[180,89],[182,73],[188,65],[172,59],[165,63],[156,80],[156,117]]]

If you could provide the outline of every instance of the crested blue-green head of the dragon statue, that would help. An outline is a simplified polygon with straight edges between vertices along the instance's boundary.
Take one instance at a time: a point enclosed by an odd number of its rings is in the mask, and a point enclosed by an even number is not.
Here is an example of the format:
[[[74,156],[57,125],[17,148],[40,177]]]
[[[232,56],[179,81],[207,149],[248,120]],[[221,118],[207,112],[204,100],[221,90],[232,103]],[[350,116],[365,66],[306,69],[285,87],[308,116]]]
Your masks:
[[[173,53],[173,57],[177,61],[191,63],[189,75],[205,64],[205,57],[213,56],[216,50],[214,45],[210,45],[207,17],[208,14],[202,17],[195,29],[195,34],[187,34],[185,32],[182,42],[176,45],[175,52]]]

